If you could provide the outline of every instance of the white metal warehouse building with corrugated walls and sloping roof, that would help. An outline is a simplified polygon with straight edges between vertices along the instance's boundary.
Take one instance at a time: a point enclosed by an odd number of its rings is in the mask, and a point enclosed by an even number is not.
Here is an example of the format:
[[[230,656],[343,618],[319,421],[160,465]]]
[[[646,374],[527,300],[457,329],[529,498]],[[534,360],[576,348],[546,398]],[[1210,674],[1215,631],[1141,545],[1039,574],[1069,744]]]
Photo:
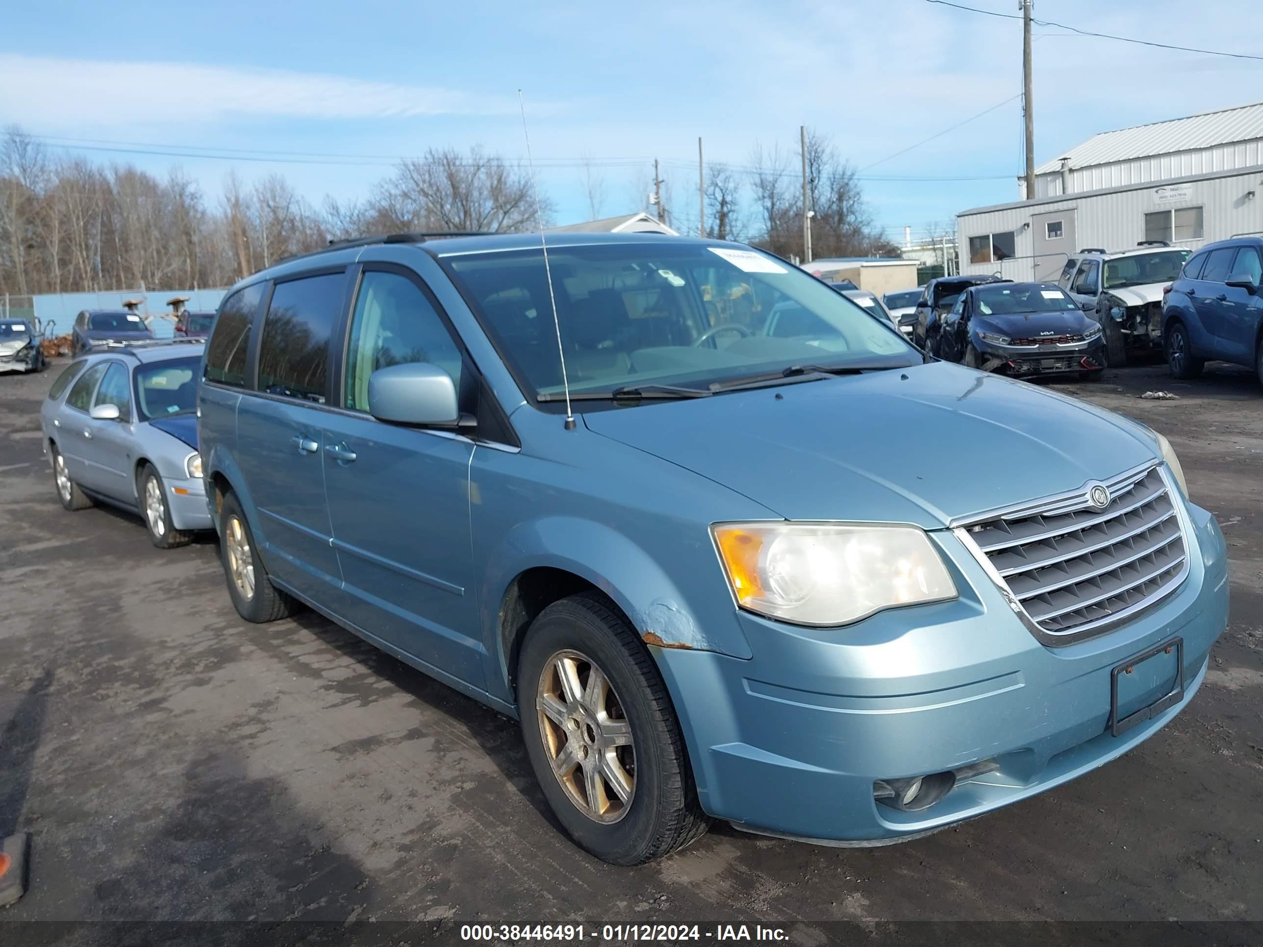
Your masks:
[[[1086,247],[1263,232],[1263,102],[1096,135],[1038,167],[1034,192],[956,216],[962,273],[1056,280]]]

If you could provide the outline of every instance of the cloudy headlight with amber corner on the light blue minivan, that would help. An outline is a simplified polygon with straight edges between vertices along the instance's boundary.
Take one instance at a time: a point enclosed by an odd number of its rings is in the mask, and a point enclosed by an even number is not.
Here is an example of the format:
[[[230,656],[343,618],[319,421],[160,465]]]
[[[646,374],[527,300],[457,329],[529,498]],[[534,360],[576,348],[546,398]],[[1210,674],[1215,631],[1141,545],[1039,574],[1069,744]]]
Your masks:
[[[724,523],[711,527],[743,609],[799,625],[845,625],[898,605],[956,597],[916,527]]]

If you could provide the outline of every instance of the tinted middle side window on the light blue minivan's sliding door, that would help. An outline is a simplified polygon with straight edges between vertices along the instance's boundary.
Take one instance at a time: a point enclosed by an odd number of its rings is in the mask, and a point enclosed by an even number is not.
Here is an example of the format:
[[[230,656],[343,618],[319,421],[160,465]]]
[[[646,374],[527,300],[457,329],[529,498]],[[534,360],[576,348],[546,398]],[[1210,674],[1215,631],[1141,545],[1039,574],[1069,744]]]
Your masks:
[[[259,343],[259,390],[325,400],[328,340],[342,308],[344,274],[278,283]]]

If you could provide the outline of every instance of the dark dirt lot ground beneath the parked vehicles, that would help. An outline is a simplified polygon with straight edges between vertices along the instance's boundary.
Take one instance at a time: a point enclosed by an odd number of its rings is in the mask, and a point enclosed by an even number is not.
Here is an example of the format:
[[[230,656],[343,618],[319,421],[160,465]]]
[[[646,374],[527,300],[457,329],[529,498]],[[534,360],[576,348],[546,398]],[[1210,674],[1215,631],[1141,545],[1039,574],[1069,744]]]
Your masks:
[[[1231,622],[1180,718],[921,841],[716,827],[635,870],[557,831],[509,720],[313,615],[241,622],[211,538],[160,552],[139,519],[63,511],[37,418],[58,367],[0,376],[0,836],[34,836],[0,942],[29,920],[326,922],[150,931],[390,943],[456,941],[465,923],[762,922],[808,944],[928,919],[1263,922],[1263,391],[1215,367],[1058,386],[1164,432],[1230,543]],[[1154,388],[1180,400],[1138,398]],[[366,920],[397,923],[342,927]],[[10,932],[131,942],[124,929]]]

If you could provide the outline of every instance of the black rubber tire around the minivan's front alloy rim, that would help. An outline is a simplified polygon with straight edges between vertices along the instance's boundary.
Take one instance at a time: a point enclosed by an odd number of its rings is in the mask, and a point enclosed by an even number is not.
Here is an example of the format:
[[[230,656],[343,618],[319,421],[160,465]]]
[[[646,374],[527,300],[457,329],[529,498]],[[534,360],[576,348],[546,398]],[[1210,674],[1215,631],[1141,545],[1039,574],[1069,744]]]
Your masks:
[[[553,773],[551,747],[557,734],[566,735],[561,746],[573,739],[584,758],[589,755],[581,737],[586,725],[580,724],[571,734],[551,722],[546,725],[537,710],[544,669],[562,652],[582,655],[590,668],[604,673],[615,701],[609,720],[618,720],[613,713],[620,711],[630,727],[634,782],[629,802],[618,808],[613,822],[586,814]],[[586,683],[591,673],[581,679]],[[527,755],[544,798],[570,837],[596,857],[613,865],[642,865],[682,849],[710,827],[697,802],[679,722],[662,674],[626,619],[605,596],[585,592],[562,599],[532,622],[518,659],[518,706]],[[546,742],[546,726],[551,742]],[[594,759],[602,753],[601,746],[591,745]],[[571,771],[577,778],[581,768],[576,765]],[[601,785],[601,795],[609,797],[613,783]]]

